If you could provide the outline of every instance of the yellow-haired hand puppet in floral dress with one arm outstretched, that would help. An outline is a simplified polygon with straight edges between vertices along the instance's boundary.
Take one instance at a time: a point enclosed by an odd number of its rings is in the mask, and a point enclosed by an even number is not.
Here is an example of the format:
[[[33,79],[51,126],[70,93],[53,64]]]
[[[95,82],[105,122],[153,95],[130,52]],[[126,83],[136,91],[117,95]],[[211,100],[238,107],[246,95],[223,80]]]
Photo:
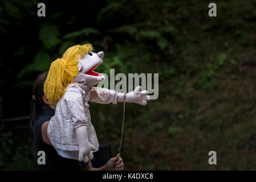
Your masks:
[[[97,140],[91,122],[88,102],[116,104],[135,102],[147,105],[148,91],[137,86],[133,92],[117,93],[115,90],[93,87],[104,80],[94,72],[103,62],[104,53],[92,52],[91,44],[67,49],[62,58],[52,62],[44,82],[44,94],[55,107],[47,135],[60,156],[88,162],[97,151]]]

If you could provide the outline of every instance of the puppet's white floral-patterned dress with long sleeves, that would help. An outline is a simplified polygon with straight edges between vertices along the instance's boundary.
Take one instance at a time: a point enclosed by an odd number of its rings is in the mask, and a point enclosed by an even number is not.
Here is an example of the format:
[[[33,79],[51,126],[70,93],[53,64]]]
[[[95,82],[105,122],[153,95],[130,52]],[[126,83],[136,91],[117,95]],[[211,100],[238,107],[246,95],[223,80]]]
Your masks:
[[[62,99],[56,105],[55,115],[50,119],[47,135],[60,156],[78,160],[79,146],[75,129],[87,126],[89,142],[99,150],[94,126],[91,123],[89,102],[116,104],[117,92],[105,88],[74,83],[67,86]]]

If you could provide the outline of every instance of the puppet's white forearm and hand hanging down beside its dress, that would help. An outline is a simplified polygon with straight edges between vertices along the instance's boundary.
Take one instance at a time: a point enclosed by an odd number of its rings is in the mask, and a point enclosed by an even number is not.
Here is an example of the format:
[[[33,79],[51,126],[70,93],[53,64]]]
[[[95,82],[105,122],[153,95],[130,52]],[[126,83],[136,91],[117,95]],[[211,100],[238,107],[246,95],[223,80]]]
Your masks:
[[[94,159],[92,151],[95,151],[96,148],[88,141],[87,127],[80,126],[76,129],[76,135],[78,137],[79,144],[79,161],[84,161],[85,163],[89,162],[89,159]]]

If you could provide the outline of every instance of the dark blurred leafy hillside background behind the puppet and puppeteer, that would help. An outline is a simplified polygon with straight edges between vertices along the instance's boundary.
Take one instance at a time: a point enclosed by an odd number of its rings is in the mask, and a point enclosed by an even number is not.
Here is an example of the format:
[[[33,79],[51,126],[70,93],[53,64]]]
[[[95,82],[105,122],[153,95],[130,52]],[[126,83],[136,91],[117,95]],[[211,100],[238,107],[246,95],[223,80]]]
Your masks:
[[[159,73],[159,98],[126,106],[125,169],[256,169],[255,1],[214,1],[212,18],[212,1],[42,2],[46,17],[39,1],[0,2],[0,169],[36,169],[32,84],[83,43],[105,53],[97,72]],[[123,104],[90,111],[99,142],[116,155]]]

